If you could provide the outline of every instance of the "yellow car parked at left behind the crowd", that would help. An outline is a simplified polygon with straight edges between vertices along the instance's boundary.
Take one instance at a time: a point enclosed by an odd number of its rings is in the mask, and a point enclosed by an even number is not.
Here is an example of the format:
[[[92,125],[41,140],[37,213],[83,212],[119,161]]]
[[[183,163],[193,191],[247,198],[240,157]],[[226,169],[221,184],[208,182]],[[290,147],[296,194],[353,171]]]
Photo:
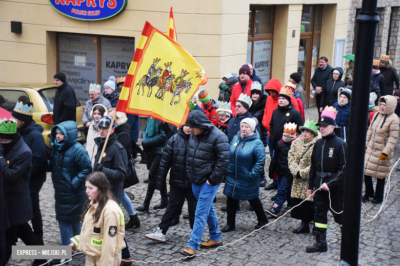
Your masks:
[[[17,101],[31,101],[33,103],[33,120],[42,125],[43,137],[45,138],[48,152],[51,150],[50,138],[48,135],[53,122],[53,104],[56,92],[54,83],[51,84],[30,84],[21,85],[15,83],[0,83],[0,107],[8,110],[10,113],[15,107]],[[78,142],[86,141],[84,135],[84,125],[82,124],[83,106],[76,99],[76,124],[78,125]]]

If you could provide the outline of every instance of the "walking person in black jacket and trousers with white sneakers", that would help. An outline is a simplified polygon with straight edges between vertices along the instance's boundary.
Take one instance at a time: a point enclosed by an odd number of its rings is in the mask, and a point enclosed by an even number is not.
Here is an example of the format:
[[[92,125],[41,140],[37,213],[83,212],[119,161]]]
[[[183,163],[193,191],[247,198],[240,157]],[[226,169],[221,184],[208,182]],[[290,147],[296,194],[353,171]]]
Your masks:
[[[159,164],[158,179],[155,184],[156,189],[162,190],[166,184],[168,170],[169,174],[169,201],[167,209],[163,215],[161,223],[154,233],[145,235],[146,238],[165,242],[165,235],[176,214],[181,208],[182,200],[188,201],[189,224],[193,228],[194,213],[196,211],[196,198],[193,195],[192,184],[186,171],[186,158],[188,141],[191,129],[188,126],[181,126],[174,136],[172,136],[165,147],[163,157]]]

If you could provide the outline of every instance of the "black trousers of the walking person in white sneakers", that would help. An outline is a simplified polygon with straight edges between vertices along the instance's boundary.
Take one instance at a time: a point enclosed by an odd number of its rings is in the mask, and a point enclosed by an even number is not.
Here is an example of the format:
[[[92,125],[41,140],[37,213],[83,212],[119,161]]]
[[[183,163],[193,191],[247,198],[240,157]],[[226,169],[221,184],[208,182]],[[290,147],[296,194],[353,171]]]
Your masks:
[[[192,188],[177,188],[170,186],[169,188],[169,200],[168,206],[165,210],[163,218],[161,219],[161,224],[158,227],[164,231],[168,231],[173,219],[175,218],[179,208],[181,208],[182,199],[186,198],[188,202],[189,211],[189,224],[190,228],[193,228],[194,224],[194,214],[196,212],[197,201],[193,195]]]

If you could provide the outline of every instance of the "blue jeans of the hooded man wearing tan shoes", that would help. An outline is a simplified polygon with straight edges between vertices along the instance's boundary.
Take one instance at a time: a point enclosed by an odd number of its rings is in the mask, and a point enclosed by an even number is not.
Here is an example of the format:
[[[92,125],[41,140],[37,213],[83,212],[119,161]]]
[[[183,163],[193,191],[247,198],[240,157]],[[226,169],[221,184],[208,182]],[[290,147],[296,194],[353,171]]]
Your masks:
[[[212,201],[218,191],[219,184],[216,186],[208,185],[204,182],[200,185],[192,184],[194,197],[197,200],[196,213],[194,217],[193,230],[190,233],[188,247],[196,251],[202,241],[206,223],[210,232],[211,241],[221,241],[221,231],[218,229],[218,219]]]

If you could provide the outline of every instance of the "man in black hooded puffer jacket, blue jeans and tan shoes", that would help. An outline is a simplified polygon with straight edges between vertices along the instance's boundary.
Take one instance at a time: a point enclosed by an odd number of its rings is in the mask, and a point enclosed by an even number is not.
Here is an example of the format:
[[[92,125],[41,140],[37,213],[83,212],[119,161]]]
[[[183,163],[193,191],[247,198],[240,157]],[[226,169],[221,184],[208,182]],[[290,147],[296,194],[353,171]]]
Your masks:
[[[193,110],[189,113],[186,125],[192,129],[186,169],[197,206],[190,240],[180,253],[191,256],[200,245],[206,222],[210,239],[201,243],[200,247],[210,249],[222,246],[221,231],[218,229],[218,219],[212,201],[228,169],[230,151],[227,136],[213,126],[204,113]]]

